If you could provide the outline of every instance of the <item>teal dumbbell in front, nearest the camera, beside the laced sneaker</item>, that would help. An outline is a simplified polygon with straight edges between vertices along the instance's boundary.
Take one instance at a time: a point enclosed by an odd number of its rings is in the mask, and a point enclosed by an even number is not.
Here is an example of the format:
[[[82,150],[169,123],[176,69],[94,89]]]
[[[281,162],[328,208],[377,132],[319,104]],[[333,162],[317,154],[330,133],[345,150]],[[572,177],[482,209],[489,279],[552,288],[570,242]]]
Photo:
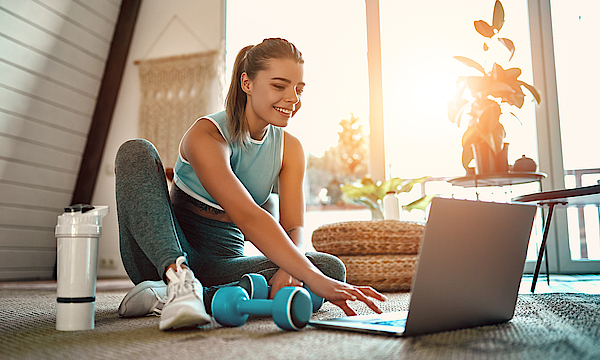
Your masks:
[[[251,299],[240,286],[224,287],[215,293],[212,313],[223,326],[241,326],[249,315],[272,316],[283,330],[300,330],[312,315],[312,302],[308,291],[300,287],[285,287],[273,300]]]

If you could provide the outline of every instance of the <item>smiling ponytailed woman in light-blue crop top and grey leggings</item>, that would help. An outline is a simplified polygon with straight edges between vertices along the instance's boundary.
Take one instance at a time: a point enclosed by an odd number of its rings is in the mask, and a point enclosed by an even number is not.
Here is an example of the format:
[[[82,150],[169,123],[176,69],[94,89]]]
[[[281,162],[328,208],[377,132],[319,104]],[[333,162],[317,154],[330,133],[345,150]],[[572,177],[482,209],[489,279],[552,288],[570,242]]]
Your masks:
[[[303,63],[283,39],[242,49],[226,111],[198,119],[181,140],[170,194],[149,142],[121,146],[115,166],[121,256],[136,284],[121,304],[122,316],[162,307],[160,329],[206,324],[203,301],[209,304],[213,292],[204,299],[201,283],[231,284],[252,272],[268,279],[271,296],[305,283],[347,315],[356,314],[348,300],[381,312],[371,298],[385,297],[344,283],[339,259],[302,251],[304,153],[283,128],[300,108]],[[279,223],[260,206],[276,179]],[[244,257],[245,240],[266,257]]]

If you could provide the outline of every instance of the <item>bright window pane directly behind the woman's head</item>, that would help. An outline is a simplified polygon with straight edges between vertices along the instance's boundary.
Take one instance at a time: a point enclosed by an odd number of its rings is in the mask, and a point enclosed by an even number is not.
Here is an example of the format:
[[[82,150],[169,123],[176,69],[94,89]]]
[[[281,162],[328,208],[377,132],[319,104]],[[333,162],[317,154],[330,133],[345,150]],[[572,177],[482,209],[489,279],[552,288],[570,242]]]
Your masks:
[[[300,139],[309,159],[321,158],[338,144],[342,120],[358,118],[365,133],[369,131],[365,19],[364,0],[228,0],[227,81],[235,56],[244,46],[267,37],[294,43],[304,56],[307,85],[302,109],[286,130]],[[312,230],[323,223],[370,218],[370,212],[361,207],[348,212],[321,206],[332,195],[323,189],[335,187],[332,174],[307,173],[307,179],[313,181],[306,184],[305,191],[307,243]]]

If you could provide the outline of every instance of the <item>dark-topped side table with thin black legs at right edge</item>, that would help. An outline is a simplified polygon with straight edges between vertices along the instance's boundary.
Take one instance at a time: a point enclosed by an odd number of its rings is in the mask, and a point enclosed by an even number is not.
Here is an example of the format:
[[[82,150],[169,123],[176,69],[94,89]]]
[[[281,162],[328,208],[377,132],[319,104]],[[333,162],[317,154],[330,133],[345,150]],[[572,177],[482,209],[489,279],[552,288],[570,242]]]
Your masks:
[[[557,205],[600,205],[600,185],[578,187],[573,189],[542,191],[539,193],[518,196],[512,200],[517,202],[536,202],[538,206],[548,206],[548,216],[546,218],[546,225],[544,227],[544,234],[542,236],[542,244],[540,246],[535,272],[533,274],[533,282],[531,284],[531,292],[534,292],[535,284],[540,273],[540,266],[542,264],[544,250],[546,249],[548,230],[550,228],[550,221],[552,220],[554,208]],[[548,256],[546,255],[546,258],[547,257]],[[546,271],[548,272],[547,265]]]

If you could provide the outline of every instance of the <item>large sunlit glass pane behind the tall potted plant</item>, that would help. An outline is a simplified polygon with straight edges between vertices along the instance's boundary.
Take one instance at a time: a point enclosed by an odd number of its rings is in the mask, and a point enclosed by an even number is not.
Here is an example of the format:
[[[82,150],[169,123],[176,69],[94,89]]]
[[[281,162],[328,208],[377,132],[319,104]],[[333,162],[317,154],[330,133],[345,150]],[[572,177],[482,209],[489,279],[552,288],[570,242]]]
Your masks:
[[[466,121],[461,127],[452,123],[447,104],[457,91],[459,77],[479,74],[454,56],[473,59],[486,69],[493,62],[505,69],[518,67],[522,71],[519,79],[533,83],[527,3],[502,0],[505,22],[501,34],[514,43],[512,57],[496,39],[484,45],[485,38],[475,30],[476,20],[492,23],[494,3],[493,0],[380,0],[386,159],[392,176],[439,179],[427,183],[428,194],[510,201],[512,197],[540,189],[537,182],[473,189],[451,186],[445,181],[465,175],[461,138]],[[532,100],[531,95],[526,95],[521,109],[503,111],[501,122],[507,133],[510,164],[522,155],[539,163]],[[404,202],[419,195],[408,195]],[[419,220],[423,216],[413,212],[404,212],[402,217]],[[536,259],[541,229],[539,216],[528,260]]]

